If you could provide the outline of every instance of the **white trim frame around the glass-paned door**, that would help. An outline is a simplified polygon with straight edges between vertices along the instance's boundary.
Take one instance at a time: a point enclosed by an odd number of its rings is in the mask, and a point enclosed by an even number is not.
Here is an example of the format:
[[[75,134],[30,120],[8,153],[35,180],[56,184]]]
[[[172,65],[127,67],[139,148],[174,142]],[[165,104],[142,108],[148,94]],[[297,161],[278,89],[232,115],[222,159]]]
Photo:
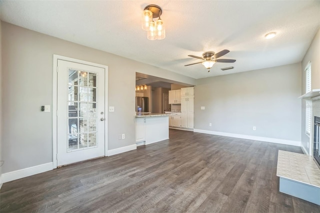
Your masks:
[[[57,62],[58,59],[60,60],[66,60],[71,61],[75,63],[82,63],[86,65],[91,66],[97,66],[104,68],[104,156],[107,156],[107,150],[108,150],[108,113],[107,113],[107,105],[108,105],[108,66],[98,64],[98,63],[92,63],[85,60],[79,60],[71,57],[66,57],[62,55],[53,54],[53,99],[52,99],[52,162],[53,162],[53,168],[57,167]]]

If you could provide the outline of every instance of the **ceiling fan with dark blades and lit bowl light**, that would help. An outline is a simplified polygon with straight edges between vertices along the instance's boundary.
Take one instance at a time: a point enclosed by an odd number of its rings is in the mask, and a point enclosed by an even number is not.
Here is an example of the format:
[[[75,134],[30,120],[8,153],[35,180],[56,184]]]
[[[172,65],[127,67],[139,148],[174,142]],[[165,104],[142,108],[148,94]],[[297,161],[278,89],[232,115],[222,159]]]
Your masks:
[[[202,57],[199,56],[195,56],[195,55],[191,55],[189,54],[188,56],[190,57],[194,57],[197,59],[201,59],[203,61],[200,62],[196,62],[196,63],[190,63],[190,64],[186,64],[184,66],[189,66],[189,65],[193,65],[193,64],[197,64],[197,63],[202,63],[202,65],[208,69],[208,72],[210,71],[210,68],[213,66],[213,64],[215,62],[222,62],[222,63],[233,63],[235,60],[234,59],[217,59],[223,55],[225,55],[226,53],[228,53],[229,50],[227,49],[223,49],[222,51],[219,51],[217,53],[214,52],[204,52],[202,54]]]

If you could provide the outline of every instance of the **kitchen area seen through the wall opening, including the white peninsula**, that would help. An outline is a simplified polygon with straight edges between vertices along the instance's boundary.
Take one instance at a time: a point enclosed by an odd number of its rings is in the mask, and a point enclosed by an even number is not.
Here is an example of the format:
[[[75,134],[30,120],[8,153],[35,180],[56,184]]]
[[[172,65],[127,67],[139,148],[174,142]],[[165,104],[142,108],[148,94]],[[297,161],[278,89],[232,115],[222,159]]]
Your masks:
[[[135,85],[137,146],[168,139],[169,128],[193,131],[193,85],[138,72]]]

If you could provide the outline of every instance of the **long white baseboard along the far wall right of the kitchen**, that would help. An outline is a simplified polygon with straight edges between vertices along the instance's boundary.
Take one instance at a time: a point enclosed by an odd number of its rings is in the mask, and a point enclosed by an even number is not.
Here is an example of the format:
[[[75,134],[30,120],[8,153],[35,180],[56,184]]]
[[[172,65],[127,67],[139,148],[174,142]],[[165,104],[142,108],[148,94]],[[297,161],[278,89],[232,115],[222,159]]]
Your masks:
[[[210,130],[203,130],[203,129],[193,129],[193,131],[199,132],[199,133],[205,133],[205,134],[215,134],[215,135],[227,136],[227,137],[237,137],[237,138],[249,139],[249,140],[258,140],[258,141],[264,141],[264,142],[274,142],[274,143],[280,143],[280,144],[286,144],[286,145],[301,146],[301,141],[295,141],[295,140],[277,139],[272,137],[260,137],[260,136],[246,135],[246,134],[234,134],[234,133],[228,133],[228,132],[210,131]]]

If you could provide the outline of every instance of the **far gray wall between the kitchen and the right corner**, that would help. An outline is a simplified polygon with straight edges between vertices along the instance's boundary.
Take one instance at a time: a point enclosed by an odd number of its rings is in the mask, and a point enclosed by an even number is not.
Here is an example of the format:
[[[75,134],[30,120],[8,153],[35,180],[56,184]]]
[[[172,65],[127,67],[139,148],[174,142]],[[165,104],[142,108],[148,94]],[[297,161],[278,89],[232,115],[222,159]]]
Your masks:
[[[300,141],[300,93],[300,63],[197,79],[194,128]]]

